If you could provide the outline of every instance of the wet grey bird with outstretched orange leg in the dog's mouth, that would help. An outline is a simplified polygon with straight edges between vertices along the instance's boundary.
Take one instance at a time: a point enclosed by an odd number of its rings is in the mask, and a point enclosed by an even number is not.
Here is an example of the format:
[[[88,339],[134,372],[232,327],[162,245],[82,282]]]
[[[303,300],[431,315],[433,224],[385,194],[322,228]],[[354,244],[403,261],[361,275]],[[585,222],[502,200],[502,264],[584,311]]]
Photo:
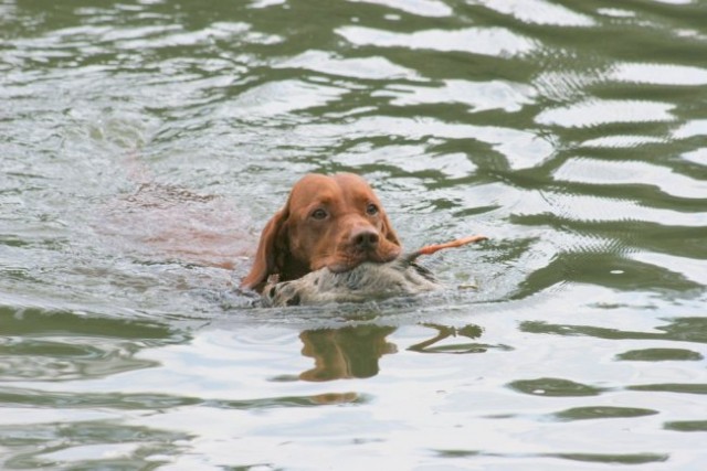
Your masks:
[[[403,253],[391,261],[365,261],[342,272],[320,268],[302,278],[279,282],[267,279],[262,301],[265,307],[314,306],[331,302],[362,302],[395,296],[411,296],[442,288],[434,275],[415,261],[422,255],[486,240],[475,235]]]

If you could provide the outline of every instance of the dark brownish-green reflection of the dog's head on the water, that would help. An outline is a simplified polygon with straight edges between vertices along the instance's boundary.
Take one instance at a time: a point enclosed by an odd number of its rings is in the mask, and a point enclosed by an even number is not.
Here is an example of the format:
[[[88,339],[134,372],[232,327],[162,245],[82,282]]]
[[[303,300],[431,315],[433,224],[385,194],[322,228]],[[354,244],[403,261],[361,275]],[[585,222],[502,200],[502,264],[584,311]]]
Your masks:
[[[302,354],[314,358],[315,366],[302,373],[299,378],[323,382],[376,376],[380,370],[378,360],[398,351],[394,344],[386,341],[394,330],[359,325],[302,332]]]

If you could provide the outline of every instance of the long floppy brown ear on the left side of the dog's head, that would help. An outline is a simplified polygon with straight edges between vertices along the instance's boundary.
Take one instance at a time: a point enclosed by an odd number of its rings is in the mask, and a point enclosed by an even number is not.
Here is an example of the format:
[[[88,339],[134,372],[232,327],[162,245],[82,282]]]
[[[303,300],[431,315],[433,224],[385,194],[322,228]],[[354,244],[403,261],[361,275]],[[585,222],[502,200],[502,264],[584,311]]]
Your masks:
[[[278,274],[284,264],[284,254],[287,247],[285,222],[289,211],[285,206],[267,222],[255,253],[253,268],[241,281],[241,288],[261,291],[267,281],[267,277]]]

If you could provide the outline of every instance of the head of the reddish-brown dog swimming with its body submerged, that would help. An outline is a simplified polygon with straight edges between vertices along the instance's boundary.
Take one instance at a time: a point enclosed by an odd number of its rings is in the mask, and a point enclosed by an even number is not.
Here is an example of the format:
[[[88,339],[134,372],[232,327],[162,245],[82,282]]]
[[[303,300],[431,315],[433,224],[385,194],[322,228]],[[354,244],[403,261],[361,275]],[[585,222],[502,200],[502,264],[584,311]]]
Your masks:
[[[262,291],[267,278],[297,279],[327,267],[334,272],[363,261],[394,259],[401,245],[380,201],[352,173],[308,174],[261,235],[253,268],[241,287]]]

